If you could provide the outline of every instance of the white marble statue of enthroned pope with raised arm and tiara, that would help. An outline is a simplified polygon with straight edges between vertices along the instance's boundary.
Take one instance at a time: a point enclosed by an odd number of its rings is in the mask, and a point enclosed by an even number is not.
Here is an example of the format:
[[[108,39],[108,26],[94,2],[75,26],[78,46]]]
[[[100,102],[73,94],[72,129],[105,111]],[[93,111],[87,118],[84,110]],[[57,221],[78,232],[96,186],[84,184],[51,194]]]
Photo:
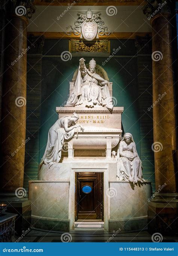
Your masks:
[[[84,61],[83,58],[80,59],[74,89],[66,106],[93,108],[94,105],[99,105],[112,110],[113,104],[107,86],[108,81],[95,73],[96,62],[94,59],[89,62],[89,69],[86,68]]]

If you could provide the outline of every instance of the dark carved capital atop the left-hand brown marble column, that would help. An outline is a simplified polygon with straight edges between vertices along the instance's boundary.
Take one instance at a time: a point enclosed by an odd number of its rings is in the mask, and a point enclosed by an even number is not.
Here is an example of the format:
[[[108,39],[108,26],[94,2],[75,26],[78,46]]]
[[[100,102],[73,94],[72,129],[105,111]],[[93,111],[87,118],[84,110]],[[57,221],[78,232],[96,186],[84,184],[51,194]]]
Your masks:
[[[0,0],[0,2],[3,1]],[[34,0],[8,0],[6,10],[8,15],[30,19],[36,7],[34,6]]]

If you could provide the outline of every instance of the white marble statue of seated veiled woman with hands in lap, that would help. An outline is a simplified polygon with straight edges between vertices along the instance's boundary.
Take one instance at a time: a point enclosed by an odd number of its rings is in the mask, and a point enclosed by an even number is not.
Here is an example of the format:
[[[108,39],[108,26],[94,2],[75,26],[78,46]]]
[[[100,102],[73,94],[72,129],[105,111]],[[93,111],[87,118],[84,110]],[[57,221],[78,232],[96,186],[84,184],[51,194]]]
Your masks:
[[[118,148],[117,179],[133,183],[144,182],[142,162],[136,150],[136,144],[131,133],[125,133]]]

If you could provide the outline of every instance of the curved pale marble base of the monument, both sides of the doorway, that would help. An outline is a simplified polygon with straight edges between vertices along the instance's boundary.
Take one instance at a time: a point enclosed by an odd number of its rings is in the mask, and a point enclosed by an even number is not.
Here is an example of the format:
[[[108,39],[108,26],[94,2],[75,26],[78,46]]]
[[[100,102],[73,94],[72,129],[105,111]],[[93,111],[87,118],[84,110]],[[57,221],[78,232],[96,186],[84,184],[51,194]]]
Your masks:
[[[129,182],[116,181],[117,163],[106,158],[65,159],[50,168],[42,165],[38,180],[29,182],[33,227],[63,232],[74,229],[75,173],[86,171],[104,173],[105,230],[146,229],[151,184],[132,187]]]

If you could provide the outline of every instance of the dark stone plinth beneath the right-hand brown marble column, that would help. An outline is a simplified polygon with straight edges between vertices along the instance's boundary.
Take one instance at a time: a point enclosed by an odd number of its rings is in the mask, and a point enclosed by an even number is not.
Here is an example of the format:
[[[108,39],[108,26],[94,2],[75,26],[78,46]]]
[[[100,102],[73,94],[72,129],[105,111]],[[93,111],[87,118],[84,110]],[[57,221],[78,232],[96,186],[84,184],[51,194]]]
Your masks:
[[[178,194],[157,195],[148,203],[148,232],[178,233]]]

